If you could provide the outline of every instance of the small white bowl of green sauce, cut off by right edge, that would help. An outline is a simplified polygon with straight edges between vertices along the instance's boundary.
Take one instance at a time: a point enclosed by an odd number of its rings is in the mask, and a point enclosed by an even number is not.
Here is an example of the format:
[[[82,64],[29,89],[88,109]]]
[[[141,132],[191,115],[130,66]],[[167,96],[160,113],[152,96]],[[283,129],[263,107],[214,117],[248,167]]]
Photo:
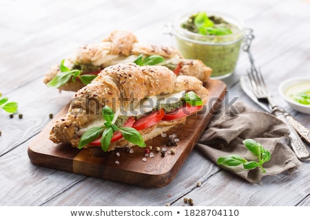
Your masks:
[[[288,95],[292,88],[294,88],[296,92],[300,92],[304,91],[306,87],[310,90],[310,77],[290,78],[280,83],[279,93],[287,101],[287,104],[289,104],[290,107],[296,111],[310,114],[310,104],[300,104],[289,98]]]

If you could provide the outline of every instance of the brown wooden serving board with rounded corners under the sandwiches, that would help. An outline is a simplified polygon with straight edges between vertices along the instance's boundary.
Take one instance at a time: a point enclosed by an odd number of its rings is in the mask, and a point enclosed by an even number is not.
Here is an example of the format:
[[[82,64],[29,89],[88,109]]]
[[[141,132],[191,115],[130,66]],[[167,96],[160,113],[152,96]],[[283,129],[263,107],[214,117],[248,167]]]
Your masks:
[[[134,153],[126,152],[125,148],[105,153],[100,147],[79,150],[72,148],[70,144],[54,144],[49,140],[49,133],[54,122],[67,113],[68,106],[66,106],[28,146],[30,161],[38,166],[126,184],[145,187],[167,186],[174,179],[198,142],[200,135],[211,122],[214,111],[220,107],[220,102],[225,96],[226,85],[223,81],[209,79],[205,82],[205,87],[209,89],[209,101],[199,115],[191,115],[185,124],[179,124],[167,131],[167,137],[159,135],[146,142],[147,146],[153,147],[154,157],[152,158],[145,157],[145,148],[138,146],[133,147]],[[178,146],[167,147],[168,135],[174,133],[180,142],[178,142]],[[161,149],[167,148],[164,157],[160,152],[156,153],[156,146]],[[174,154],[169,154],[171,148],[175,148]],[[143,157],[147,159],[146,162],[143,161]]]

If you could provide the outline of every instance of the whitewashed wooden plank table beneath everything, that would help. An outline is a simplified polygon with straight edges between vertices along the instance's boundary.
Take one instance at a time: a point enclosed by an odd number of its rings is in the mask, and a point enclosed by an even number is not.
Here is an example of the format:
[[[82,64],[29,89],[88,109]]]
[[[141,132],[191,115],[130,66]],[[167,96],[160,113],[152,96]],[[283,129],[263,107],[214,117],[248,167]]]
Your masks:
[[[10,118],[0,111],[0,206],[309,206],[310,164],[292,175],[265,177],[249,184],[211,162],[194,148],[178,175],[163,188],[142,188],[35,166],[27,149],[63,108],[72,93],[44,85],[43,76],[86,43],[101,41],[115,29],[131,30],[146,43],[175,45],[162,26],[180,14],[208,9],[236,14],[252,28],[252,51],[278,104],[310,127],[310,117],[293,111],[278,94],[282,80],[310,74],[310,1],[1,1],[0,92],[19,103]],[[225,79],[225,103],[245,96],[239,78],[249,67],[242,52],[236,73]],[[44,146],[42,146],[44,147]],[[202,181],[196,187],[196,181]]]

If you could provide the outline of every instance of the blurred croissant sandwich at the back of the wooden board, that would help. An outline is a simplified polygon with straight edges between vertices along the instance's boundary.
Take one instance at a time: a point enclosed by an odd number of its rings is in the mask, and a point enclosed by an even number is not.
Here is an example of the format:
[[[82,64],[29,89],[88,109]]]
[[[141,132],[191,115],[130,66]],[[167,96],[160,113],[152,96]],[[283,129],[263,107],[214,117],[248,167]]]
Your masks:
[[[100,43],[79,47],[69,58],[50,68],[44,83],[59,90],[78,91],[90,83],[102,69],[117,63],[163,65],[176,75],[207,80],[211,68],[202,61],[185,59],[171,46],[140,43],[132,32],[116,30]]]

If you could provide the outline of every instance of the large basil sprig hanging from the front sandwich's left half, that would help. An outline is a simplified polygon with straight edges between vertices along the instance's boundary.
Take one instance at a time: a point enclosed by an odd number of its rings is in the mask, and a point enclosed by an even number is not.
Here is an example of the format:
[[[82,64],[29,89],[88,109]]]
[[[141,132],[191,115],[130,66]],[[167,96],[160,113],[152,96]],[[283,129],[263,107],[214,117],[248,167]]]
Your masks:
[[[85,131],[85,133],[83,133],[83,135],[80,138],[78,146],[79,149],[83,148],[86,144],[89,144],[90,142],[96,140],[101,135],[101,148],[103,149],[103,151],[106,152],[110,146],[113,133],[115,131],[121,131],[121,134],[128,142],[131,142],[141,147],[146,146],[141,133],[136,131],[136,129],[125,126],[118,127],[115,124],[112,124],[115,115],[110,107],[105,105],[105,107],[101,109],[101,113],[103,115],[103,119],[105,120],[104,125],[95,126]]]

